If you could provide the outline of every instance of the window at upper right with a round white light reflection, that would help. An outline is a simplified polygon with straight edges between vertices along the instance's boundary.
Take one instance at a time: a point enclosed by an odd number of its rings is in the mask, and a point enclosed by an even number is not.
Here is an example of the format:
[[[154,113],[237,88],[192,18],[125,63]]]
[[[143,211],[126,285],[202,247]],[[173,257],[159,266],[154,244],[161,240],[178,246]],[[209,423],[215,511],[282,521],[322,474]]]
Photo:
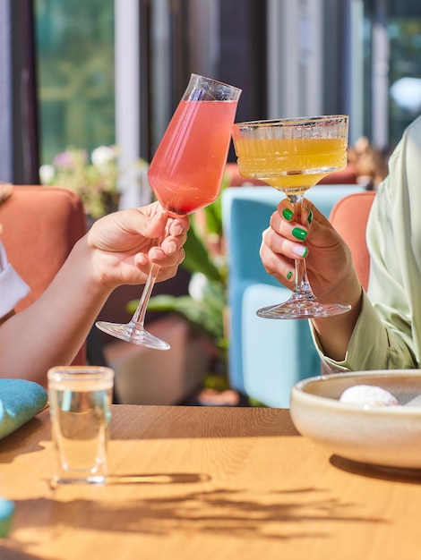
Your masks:
[[[382,34],[377,49],[374,30],[377,37],[379,30]],[[364,37],[365,134],[373,140],[379,129],[384,131],[380,147],[391,150],[408,124],[421,115],[419,0],[365,0]]]

